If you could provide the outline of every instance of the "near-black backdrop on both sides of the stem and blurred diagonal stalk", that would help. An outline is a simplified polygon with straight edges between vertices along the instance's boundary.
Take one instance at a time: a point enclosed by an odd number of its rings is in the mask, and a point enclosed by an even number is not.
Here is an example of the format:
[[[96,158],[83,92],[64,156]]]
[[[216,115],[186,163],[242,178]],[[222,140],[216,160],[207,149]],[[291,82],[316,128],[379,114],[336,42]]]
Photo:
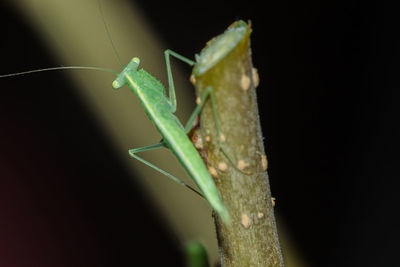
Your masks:
[[[251,19],[279,223],[309,266],[395,266],[398,9],[388,1],[136,3],[188,57],[234,20]],[[58,65],[2,3],[0,17],[0,73],[22,71],[21,60],[27,69]],[[183,266],[180,244],[71,86],[62,73],[0,80],[0,266]]]

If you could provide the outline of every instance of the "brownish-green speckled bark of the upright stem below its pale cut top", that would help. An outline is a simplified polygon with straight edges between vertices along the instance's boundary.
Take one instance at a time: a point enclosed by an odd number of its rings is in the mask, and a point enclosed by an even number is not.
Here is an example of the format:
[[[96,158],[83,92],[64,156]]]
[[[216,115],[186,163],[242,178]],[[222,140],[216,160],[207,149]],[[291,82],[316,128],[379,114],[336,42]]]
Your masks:
[[[225,225],[214,216],[222,266],[283,266],[258,115],[258,76],[252,66],[250,33],[248,25],[244,37],[227,55],[204,73],[194,73],[198,96],[207,86],[214,89],[223,134],[220,140],[227,155],[217,141],[210,103],[200,116],[201,154],[209,169],[216,170],[215,183],[232,217],[232,224]]]

